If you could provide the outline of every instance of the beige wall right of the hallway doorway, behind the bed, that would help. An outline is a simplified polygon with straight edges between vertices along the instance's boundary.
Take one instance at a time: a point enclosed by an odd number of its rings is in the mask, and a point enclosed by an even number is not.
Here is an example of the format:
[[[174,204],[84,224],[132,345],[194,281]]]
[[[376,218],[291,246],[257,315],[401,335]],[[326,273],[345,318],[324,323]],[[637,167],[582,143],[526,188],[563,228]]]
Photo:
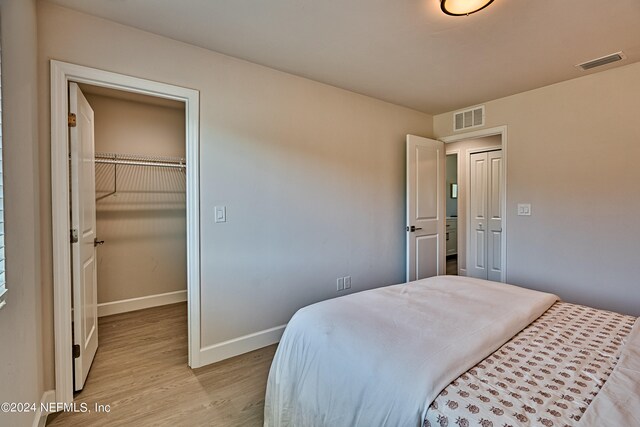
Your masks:
[[[486,103],[486,127],[508,126],[508,282],[640,315],[638,94],[635,63]]]

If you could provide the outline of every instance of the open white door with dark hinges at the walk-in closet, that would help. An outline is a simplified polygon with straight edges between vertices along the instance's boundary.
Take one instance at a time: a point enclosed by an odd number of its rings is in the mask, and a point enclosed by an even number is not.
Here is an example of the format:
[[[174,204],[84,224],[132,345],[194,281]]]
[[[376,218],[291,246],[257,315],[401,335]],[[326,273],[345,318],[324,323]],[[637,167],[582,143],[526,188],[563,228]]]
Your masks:
[[[93,110],[75,83],[69,84],[74,388],[82,390],[98,349],[96,186]]]

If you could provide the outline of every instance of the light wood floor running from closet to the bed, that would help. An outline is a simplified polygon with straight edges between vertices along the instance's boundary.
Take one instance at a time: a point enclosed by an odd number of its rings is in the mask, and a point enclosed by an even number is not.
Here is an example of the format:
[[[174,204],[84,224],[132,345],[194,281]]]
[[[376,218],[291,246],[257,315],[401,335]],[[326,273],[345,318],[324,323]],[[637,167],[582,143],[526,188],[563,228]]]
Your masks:
[[[276,346],[187,366],[187,305],[102,317],[100,346],[77,404],[110,413],[58,413],[48,426],[261,426]]]

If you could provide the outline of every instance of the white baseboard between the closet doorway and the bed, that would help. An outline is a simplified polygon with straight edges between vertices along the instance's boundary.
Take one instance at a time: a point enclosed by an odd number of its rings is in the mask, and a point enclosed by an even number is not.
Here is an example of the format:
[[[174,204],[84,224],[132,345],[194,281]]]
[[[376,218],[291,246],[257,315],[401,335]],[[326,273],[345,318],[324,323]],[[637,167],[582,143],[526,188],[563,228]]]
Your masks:
[[[287,325],[276,326],[264,331],[234,338],[229,341],[210,345],[200,350],[199,366],[219,362],[233,356],[248,353],[280,341],[284,328]],[[194,368],[197,366],[194,366]]]

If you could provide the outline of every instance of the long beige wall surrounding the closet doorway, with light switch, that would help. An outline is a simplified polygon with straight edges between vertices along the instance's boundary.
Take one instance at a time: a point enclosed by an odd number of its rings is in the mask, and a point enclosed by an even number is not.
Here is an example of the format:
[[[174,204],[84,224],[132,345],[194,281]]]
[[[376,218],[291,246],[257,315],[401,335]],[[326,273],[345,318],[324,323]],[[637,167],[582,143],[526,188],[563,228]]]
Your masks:
[[[41,218],[53,385],[49,59],[200,91],[202,344],[285,324],[336,292],[402,282],[405,136],[427,114],[38,3]],[[215,224],[214,206],[227,207]]]

